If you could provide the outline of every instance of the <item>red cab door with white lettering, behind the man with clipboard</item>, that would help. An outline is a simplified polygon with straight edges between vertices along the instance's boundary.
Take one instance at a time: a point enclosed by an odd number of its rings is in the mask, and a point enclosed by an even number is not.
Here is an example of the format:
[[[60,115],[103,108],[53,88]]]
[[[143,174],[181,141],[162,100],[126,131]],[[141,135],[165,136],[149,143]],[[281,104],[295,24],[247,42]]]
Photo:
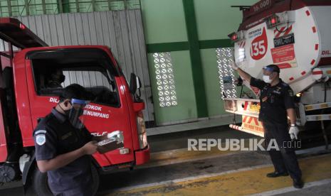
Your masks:
[[[59,101],[64,87],[78,84],[89,92],[92,102],[85,108],[85,126],[93,135],[123,131],[124,148],[105,154],[95,153],[101,166],[128,163],[134,160],[130,115],[121,88],[120,75],[105,51],[96,48],[63,49],[29,54],[26,60],[28,94],[33,127],[38,119],[50,113]],[[30,57],[30,58],[29,58]]]

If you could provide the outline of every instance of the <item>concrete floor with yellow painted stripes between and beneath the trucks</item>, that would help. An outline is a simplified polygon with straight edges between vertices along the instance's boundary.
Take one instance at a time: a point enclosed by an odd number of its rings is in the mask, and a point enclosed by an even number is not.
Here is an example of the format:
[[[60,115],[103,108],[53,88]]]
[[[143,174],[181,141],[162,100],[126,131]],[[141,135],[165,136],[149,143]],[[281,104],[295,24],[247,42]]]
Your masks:
[[[288,177],[266,178],[265,152],[187,151],[187,138],[252,137],[227,126],[149,136],[150,163],[100,176],[98,195],[331,195],[331,155],[300,155],[307,187],[295,190]],[[20,182],[6,187],[0,195],[23,195]]]

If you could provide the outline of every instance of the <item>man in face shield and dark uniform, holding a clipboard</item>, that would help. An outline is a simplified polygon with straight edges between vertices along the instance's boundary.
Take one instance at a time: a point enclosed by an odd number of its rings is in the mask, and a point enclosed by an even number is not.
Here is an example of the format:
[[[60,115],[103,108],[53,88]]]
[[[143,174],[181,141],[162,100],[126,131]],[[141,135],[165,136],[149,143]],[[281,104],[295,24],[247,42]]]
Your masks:
[[[86,93],[80,85],[65,87],[58,105],[33,131],[36,162],[47,172],[53,195],[93,195],[90,155],[97,146],[80,117]]]

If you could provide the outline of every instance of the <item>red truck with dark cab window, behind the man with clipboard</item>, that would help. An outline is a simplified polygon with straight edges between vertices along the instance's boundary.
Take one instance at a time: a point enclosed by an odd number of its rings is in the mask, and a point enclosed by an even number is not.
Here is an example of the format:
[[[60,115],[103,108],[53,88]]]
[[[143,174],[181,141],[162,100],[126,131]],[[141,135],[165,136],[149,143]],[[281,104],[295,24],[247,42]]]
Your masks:
[[[85,107],[85,126],[95,136],[120,131],[124,146],[93,154],[94,190],[98,174],[147,163],[149,145],[140,99],[140,79],[130,85],[110,48],[102,45],[48,47],[20,21],[0,18],[0,38],[8,51],[0,52],[0,182],[22,178],[37,195],[51,195],[46,173],[36,168],[33,129],[58,103],[63,87],[77,83],[93,94]],[[13,46],[18,48],[13,50]],[[51,87],[54,74],[65,76]],[[28,186],[31,187],[31,186]]]

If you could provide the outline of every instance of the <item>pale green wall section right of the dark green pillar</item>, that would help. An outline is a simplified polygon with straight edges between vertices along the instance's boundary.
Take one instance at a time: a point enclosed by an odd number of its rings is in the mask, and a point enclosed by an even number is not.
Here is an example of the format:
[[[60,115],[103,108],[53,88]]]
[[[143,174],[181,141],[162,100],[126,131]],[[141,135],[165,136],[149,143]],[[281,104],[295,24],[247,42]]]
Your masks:
[[[256,0],[194,0],[199,39],[227,39],[227,35],[236,31],[242,20],[241,11],[231,6],[249,6],[254,3]],[[201,50],[201,60],[209,117],[228,114],[224,111],[224,102],[221,99],[215,48]]]

